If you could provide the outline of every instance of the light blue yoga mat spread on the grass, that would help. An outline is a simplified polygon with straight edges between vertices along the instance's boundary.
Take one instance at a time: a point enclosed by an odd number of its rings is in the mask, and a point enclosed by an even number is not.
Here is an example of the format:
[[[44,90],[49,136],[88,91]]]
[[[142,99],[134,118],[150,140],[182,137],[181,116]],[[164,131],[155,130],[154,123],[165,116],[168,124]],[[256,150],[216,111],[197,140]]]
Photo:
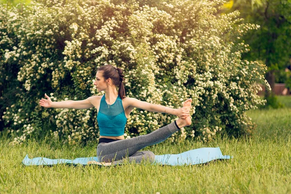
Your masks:
[[[194,165],[207,163],[213,160],[218,159],[230,159],[231,156],[224,156],[221,153],[219,147],[204,147],[199,149],[189,150],[180,154],[164,154],[156,155],[155,162],[161,165]],[[43,157],[37,157],[33,159],[28,158],[28,154],[23,159],[22,163],[24,165],[54,165],[54,164],[83,164],[87,165],[89,161],[97,161],[97,157],[88,157],[88,158],[76,158],[74,160],[68,159],[49,159]],[[96,164],[95,164],[96,165]],[[115,164],[117,165],[117,164]]]

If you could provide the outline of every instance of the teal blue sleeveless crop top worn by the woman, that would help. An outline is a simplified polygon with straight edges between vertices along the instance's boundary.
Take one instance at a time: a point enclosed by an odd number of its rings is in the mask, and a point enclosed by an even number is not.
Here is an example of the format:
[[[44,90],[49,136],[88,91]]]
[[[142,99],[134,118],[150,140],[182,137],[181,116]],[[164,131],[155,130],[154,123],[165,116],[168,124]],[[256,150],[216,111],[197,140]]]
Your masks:
[[[109,108],[105,101],[105,95],[103,95],[97,114],[97,121],[101,136],[120,136],[124,134],[127,118],[119,95],[115,102],[109,105]]]

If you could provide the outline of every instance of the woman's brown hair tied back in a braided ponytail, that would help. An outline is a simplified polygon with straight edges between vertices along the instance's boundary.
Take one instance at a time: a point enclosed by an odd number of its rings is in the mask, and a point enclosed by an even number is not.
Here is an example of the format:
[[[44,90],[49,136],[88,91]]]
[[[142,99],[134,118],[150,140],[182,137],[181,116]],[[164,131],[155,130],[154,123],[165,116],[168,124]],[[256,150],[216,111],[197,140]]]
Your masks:
[[[124,75],[123,70],[113,65],[103,65],[97,69],[97,71],[103,71],[103,77],[105,80],[111,78],[113,85],[119,86],[118,95],[121,99],[125,98],[125,89],[123,85]]]

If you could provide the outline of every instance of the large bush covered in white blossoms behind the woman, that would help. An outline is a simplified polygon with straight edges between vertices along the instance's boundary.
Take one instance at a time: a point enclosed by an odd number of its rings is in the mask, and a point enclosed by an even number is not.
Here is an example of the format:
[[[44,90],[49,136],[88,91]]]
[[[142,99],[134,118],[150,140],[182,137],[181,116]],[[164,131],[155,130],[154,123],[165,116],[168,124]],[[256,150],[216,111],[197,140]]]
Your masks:
[[[0,76],[17,64],[21,91],[2,116],[13,143],[48,132],[70,144],[98,138],[96,108],[45,109],[38,101],[45,92],[54,101],[102,95],[93,79],[107,64],[125,70],[128,97],[172,108],[193,99],[193,124],[172,141],[251,134],[245,112],[264,103],[256,83],[269,85],[265,65],[241,60],[249,49],[240,37],[259,26],[241,24],[238,12],[219,14],[223,0],[146,2],[40,0],[21,11],[0,5]],[[175,119],[133,109],[125,136]]]

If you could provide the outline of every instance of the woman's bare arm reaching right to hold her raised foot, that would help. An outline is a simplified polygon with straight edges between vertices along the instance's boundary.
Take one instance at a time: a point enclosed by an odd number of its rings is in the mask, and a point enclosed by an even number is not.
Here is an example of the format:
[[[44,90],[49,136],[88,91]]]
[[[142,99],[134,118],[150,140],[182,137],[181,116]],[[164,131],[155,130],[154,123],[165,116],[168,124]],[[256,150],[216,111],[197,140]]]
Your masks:
[[[145,101],[138,100],[136,98],[130,97],[129,98],[129,104],[132,107],[143,109],[150,112],[155,113],[167,113],[167,114],[173,114],[180,118],[187,118],[190,114],[190,110],[187,108],[179,108],[179,109],[172,109],[170,107],[162,106],[159,104],[151,104]]]

